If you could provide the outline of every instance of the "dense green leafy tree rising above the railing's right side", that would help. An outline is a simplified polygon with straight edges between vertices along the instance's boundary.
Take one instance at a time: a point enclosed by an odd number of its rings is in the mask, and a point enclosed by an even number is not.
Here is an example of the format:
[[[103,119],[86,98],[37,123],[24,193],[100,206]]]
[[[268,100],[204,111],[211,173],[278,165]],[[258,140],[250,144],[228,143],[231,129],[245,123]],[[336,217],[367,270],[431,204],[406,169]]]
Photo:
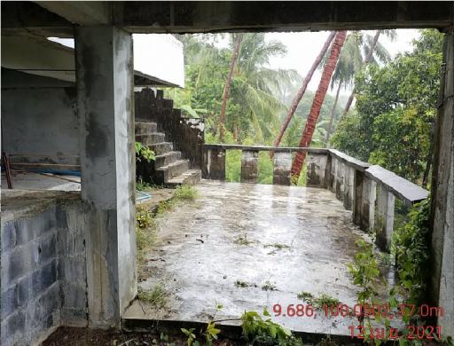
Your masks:
[[[356,75],[356,113],[342,120],[332,144],[419,183],[430,157],[442,34],[422,30],[413,46],[414,51],[385,66],[370,66]]]

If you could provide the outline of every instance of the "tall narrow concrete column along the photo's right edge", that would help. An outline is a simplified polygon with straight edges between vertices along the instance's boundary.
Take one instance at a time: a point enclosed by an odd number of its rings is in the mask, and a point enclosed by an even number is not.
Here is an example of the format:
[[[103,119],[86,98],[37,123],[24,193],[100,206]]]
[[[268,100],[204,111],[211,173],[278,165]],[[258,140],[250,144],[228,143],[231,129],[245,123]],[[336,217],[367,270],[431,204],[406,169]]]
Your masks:
[[[444,310],[437,323],[454,336],[454,37],[445,35],[443,71],[434,138],[431,200],[431,303]]]

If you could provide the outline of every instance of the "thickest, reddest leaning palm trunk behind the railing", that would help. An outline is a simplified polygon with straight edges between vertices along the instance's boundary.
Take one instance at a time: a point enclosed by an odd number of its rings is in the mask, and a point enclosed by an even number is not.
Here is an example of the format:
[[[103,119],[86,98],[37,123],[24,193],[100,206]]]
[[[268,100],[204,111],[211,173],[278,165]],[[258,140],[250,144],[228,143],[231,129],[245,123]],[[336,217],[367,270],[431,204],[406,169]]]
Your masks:
[[[299,145],[300,147],[309,146],[310,141],[312,140],[314,130],[316,130],[318,115],[320,114],[320,109],[322,107],[323,101],[325,100],[326,91],[328,90],[328,86],[331,82],[331,77],[333,75],[334,68],[336,67],[337,60],[339,59],[340,50],[345,42],[346,35],[346,31],[339,31],[336,34],[336,38],[334,39],[333,47],[330,52],[330,57],[324,67],[316,95],[314,97],[314,100],[312,101],[312,106],[310,108],[306,126],[304,127],[304,131],[302,132]],[[292,180],[298,181],[302,164],[304,163],[305,158],[305,152],[299,152],[296,154],[294,163],[292,165]]]

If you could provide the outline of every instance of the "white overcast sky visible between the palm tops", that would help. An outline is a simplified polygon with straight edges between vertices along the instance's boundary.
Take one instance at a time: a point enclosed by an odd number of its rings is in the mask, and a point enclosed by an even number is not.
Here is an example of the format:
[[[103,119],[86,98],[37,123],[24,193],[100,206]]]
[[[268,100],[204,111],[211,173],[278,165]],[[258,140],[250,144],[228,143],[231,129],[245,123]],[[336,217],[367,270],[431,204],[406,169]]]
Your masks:
[[[418,30],[415,29],[398,29],[395,42],[390,42],[385,35],[380,36],[380,42],[387,48],[392,57],[399,52],[411,51],[411,41],[419,37]],[[374,35],[374,31],[367,32]],[[312,33],[270,33],[266,34],[266,40],[277,40],[284,43],[287,47],[287,54],[284,57],[272,57],[270,67],[272,68],[293,68],[304,78],[309,68],[322,49],[328,31]],[[313,75],[309,83],[309,90],[317,90],[320,82],[321,71]],[[341,90],[341,94],[348,95],[349,90]],[[334,94],[335,90],[329,90],[328,93]]]

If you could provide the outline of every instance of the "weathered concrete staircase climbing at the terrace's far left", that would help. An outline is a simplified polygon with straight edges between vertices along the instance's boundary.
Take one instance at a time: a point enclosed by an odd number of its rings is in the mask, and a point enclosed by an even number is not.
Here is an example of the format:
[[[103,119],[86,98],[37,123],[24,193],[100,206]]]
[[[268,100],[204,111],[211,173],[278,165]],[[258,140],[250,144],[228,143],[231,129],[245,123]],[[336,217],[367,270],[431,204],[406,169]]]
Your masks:
[[[191,169],[189,160],[173,150],[173,143],[166,142],[166,135],[158,132],[156,122],[136,122],[136,141],[156,153],[152,171],[154,184],[194,185],[200,181],[200,169]]]

